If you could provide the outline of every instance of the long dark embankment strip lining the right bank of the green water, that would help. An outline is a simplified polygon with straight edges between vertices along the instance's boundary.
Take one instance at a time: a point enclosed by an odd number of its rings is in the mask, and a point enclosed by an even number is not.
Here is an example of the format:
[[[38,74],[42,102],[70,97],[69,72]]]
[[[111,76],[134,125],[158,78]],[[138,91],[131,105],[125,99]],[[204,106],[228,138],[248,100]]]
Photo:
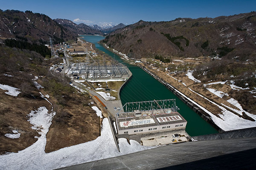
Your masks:
[[[213,120],[210,118],[210,116],[208,115],[208,113],[206,113],[205,111],[203,111],[201,108],[199,108],[197,105],[195,105],[194,103],[192,103],[191,101],[189,101],[189,99],[187,99],[186,97],[182,96],[180,93],[177,92],[177,89],[175,87],[173,87],[172,85],[170,85],[168,82],[166,82],[165,80],[163,80],[162,78],[160,78],[159,76],[155,75],[154,73],[152,73],[151,71],[149,71],[147,68],[144,68],[143,66],[139,65],[139,67],[141,69],[143,69],[145,72],[147,72],[148,74],[150,74],[152,77],[154,77],[154,79],[157,79],[157,81],[159,81],[160,83],[162,83],[166,88],[168,88],[170,91],[172,91],[173,94],[175,94],[180,100],[182,100],[186,105],[189,106],[189,108],[191,108],[193,111],[195,111],[195,113],[197,113],[199,116],[201,116],[205,121],[209,122],[215,129],[218,130],[218,132],[224,132],[224,130],[222,130],[220,127],[218,127],[215,122],[213,122]]]

